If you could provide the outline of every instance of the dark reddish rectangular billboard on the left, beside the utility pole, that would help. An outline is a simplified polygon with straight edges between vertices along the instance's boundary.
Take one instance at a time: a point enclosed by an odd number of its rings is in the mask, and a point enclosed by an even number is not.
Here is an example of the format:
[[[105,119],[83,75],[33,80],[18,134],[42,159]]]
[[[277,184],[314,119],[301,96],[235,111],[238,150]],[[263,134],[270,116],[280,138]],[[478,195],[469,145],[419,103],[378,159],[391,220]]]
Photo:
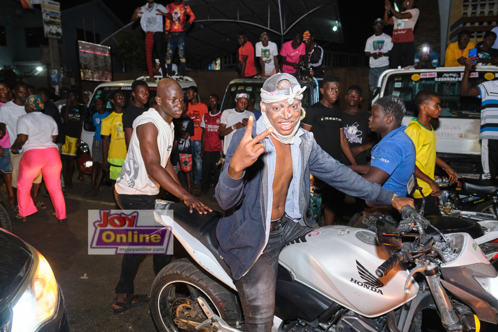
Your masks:
[[[111,47],[78,40],[81,79],[111,82]]]

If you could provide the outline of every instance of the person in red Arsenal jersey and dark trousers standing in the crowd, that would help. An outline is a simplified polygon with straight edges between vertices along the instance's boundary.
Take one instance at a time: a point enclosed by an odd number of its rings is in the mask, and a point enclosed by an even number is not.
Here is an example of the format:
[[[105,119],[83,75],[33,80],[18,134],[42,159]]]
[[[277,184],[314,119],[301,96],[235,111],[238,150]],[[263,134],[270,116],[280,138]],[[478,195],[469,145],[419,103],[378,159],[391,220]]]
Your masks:
[[[215,171],[215,181],[218,183],[220,171],[218,161],[223,155],[223,141],[220,139],[218,131],[220,129],[221,111],[218,106],[220,98],[218,95],[209,96],[209,113],[202,117],[202,183],[201,196],[207,196],[209,191],[209,181],[211,173]]]

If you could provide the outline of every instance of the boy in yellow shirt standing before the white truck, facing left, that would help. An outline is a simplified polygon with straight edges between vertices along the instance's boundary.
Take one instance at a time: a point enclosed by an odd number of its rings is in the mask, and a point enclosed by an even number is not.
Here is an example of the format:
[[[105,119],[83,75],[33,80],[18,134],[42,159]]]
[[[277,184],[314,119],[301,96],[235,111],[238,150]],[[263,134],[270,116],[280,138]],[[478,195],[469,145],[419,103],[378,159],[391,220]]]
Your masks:
[[[415,161],[415,175],[418,185],[422,187],[425,196],[425,216],[441,215],[436,197],[441,192],[434,182],[434,169],[436,165],[444,168],[451,182],[458,180],[458,174],[446,164],[441,158],[436,156],[436,134],[429,123],[431,119],[439,117],[441,114],[440,100],[436,92],[422,90],[415,96],[415,105],[418,107],[418,117],[411,119],[405,133],[410,136],[417,158]],[[422,206],[422,196],[419,192],[413,195],[415,204]]]

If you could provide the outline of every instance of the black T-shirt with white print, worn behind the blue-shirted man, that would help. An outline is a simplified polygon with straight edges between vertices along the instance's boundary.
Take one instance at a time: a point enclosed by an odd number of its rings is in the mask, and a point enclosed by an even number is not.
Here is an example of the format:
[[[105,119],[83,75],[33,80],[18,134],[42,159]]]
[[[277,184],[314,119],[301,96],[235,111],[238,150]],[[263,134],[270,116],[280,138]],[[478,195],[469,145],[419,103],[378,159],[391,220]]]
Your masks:
[[[369,128],[369,118],[372,113],[361,111],[357,114],[351,115],[343,111],[341,128],[344,128],[344,135],[349,141],[350,147],[362,146],[367,144],[367,136],[371,134],[372,130]],[[367,154],[365,151],[355,157],[358,165],[367,164]],[[348,158],[342,154],[342,162],[345,165],[350,165]]]

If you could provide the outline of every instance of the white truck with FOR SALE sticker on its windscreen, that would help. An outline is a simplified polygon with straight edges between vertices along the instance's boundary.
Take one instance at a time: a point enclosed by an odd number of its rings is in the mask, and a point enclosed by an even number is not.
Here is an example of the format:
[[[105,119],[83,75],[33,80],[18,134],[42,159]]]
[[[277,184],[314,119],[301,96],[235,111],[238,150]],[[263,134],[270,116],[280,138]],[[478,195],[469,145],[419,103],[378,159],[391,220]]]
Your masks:
[[[406,105],[403,125],[417,116],[414,98],[425,89],[434,90],[441,99],[442,112],[431,124],[436,133],[438,156],[465,173],[479,173],[481,162],[481,99],[461,97],[460,85],[464,67],[438,67],[435,69],[391,69],[379,78],[374,101],[383,96],[400,97]],[[478,66],[471,72],[469,86],[498,79],[498,67]]]

